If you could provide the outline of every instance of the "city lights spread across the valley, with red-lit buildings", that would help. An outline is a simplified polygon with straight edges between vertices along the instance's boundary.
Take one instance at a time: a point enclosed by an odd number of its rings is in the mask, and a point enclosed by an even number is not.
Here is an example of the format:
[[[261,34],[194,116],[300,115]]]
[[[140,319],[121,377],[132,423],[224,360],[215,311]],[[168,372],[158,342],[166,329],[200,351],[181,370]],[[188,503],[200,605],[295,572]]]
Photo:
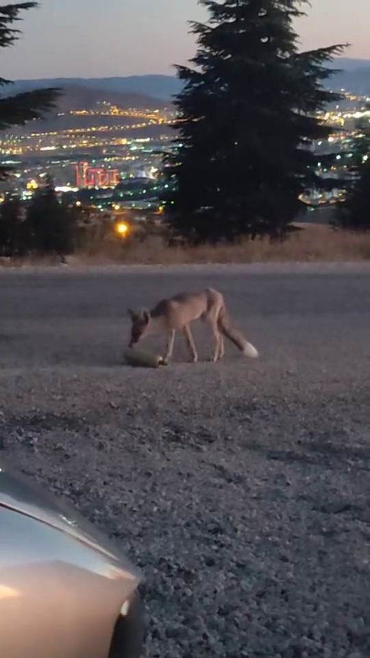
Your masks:
[[[343,180],[351,168],[351,147],[358,134],[356,122],[367,114],[369,99],[344,92],[340,105],[319,114],[333,127],[328,140],[314,145],[317,174]],[[155,101],[154,101],[155,102]],[[159,103],[160,104],[160,103]],[[370,115],[369,115],[370,118]],[[158,211],[162,156],[169,149],[174,108],[121,108],[110,101],[94,108],[58,112],[45,121],[2,135],[1,164],[14,173],[1,184],[5,193],[27,202],[51,177],[56,190],[71,202],[109,208]],[[337,154],[335,164],[323,167],[320,156]],[[311,208],[328,206],[341,197],[312,191],[302,200]]]

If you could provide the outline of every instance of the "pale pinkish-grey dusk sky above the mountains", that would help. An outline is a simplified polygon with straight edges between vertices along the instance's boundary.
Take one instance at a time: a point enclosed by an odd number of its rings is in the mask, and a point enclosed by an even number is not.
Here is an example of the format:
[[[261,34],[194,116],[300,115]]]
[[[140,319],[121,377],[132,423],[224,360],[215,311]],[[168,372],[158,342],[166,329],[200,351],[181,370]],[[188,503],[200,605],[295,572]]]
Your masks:
[[[297,23],[303,48],[351,42],[370,59],[370,1],[312,0]],[[171,73],[195,51],[186,21],[206,14],[197,0],[43,0],[25,12],[25,34],[1,52],[1,75],[103,77]]]

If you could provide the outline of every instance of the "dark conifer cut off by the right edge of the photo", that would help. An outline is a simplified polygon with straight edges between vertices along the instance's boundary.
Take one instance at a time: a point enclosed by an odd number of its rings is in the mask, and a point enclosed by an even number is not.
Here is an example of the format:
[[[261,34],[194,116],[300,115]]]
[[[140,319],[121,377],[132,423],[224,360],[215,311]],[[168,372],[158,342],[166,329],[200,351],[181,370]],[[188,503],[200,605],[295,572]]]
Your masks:
[[[351,184],[345,200],[338,203],[334,225],[354,231],[370,230],[370,104],[358,121],[353,156]]]

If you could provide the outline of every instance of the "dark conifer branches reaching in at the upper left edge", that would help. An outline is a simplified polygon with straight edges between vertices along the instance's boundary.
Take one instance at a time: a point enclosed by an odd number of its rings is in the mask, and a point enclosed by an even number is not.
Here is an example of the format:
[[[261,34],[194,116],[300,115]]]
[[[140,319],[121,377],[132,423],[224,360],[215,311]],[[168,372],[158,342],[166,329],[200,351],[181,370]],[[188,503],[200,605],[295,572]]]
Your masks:
[[[0,5],[0,48],[8,48],[19,38],[21,31],[14,23],[20,21],[23,10],[33,9],[37,2],[21,2]],[[0,86],[11,85],[10,80],[0,78]],[[40,119],[45,112],[54,108],[58,89],[40,89],[5,97],[0,95],[0,130],[7,130],[14,125],[24,125],[32,119]],[[0,167],[0,180],[5,178],[9,169]]]

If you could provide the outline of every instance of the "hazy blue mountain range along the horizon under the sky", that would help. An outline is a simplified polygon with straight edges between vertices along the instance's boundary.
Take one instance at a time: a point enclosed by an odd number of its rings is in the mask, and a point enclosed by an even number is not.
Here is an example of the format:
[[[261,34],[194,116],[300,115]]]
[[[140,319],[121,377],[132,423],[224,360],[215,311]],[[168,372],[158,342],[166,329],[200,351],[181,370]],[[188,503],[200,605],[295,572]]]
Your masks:
[[[328,82],[333,89],[344,88],[352,93],[370,95],[370,60],[338,58],[332,68],[341,69]],[[12,93],[42,87],[60,87],[66,90],[64,105],[90,106],[99,99],[108,99],[121,106],[152,107],[168,102],[180,92],[182,82],[171,75],[132,75],[130,77],[53,78],[49,80],[17,80]],[[75,99],[73,100],[73,95]],[[94,100],[95,99],[95,100]],[[157,100],[154,100],[157,99]],[[78,109],[73,106],[72,109]]]

